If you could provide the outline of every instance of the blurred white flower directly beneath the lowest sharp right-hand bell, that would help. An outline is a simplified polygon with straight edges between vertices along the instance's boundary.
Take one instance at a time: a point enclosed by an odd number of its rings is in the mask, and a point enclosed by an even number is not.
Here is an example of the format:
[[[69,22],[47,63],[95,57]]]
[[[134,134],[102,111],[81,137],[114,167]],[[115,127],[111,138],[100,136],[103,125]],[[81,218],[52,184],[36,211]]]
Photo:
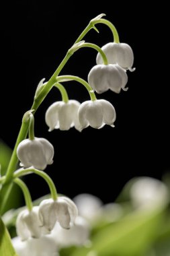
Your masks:
[[[61,228],[58,223],[51,232],[58,247],[69,247],[72,245],[85,245],[89,239],[89,224],[85,218],[77,216],[75,224],[69,230]]]

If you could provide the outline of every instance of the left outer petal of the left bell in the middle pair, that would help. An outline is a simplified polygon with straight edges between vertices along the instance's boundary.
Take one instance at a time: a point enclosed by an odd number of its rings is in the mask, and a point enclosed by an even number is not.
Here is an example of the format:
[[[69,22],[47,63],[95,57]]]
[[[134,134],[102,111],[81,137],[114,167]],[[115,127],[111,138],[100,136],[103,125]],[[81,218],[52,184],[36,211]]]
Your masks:
[[[59,121],[58,121],[58,113],[60,108],[65,103],[62,101],[54,102],[49,108],[46,110],[46,124],[49,127],[49,131],[52,131],[54,128],[58,129],[59,127]]]

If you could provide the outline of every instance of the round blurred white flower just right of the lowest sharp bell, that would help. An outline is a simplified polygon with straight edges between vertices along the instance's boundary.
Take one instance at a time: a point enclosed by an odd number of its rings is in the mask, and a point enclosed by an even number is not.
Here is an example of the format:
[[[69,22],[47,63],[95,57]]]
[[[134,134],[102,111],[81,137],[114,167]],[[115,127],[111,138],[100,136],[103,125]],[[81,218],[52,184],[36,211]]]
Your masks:
[[[95,195],[90,194],[80,194],[73,198],[77,208],[79,210],[79,215],[86,220],[93,221],[99,216],[101,211],[102,201],[95,197]]]

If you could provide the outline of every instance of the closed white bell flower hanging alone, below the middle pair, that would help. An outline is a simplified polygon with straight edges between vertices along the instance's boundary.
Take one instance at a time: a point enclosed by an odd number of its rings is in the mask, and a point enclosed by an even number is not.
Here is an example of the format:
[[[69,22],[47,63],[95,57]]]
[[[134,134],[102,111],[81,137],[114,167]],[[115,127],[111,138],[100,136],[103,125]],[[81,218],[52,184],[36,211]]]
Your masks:
[[[38,170],[44,170],[47,164],[52,164],[53,156],[54,148],[44,138],[24,139],[17,147],[17,157],[24,168],[33,166]]]

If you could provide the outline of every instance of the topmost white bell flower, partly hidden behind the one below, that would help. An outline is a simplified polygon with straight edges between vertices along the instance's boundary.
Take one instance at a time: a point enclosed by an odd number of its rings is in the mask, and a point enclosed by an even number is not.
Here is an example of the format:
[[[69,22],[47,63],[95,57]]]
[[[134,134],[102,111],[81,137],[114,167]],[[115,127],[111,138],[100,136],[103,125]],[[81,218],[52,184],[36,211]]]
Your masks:
[[[128,44],[124,44],[122,42],[109,42],[101,47],[101,49],[105,53],[108,63],[118,64],[123,69],[134,71],[134,69],[132,69],[134,54],[132,48]],[[97,54],[96,63],[103,64],[103,59],[99,53]]]

